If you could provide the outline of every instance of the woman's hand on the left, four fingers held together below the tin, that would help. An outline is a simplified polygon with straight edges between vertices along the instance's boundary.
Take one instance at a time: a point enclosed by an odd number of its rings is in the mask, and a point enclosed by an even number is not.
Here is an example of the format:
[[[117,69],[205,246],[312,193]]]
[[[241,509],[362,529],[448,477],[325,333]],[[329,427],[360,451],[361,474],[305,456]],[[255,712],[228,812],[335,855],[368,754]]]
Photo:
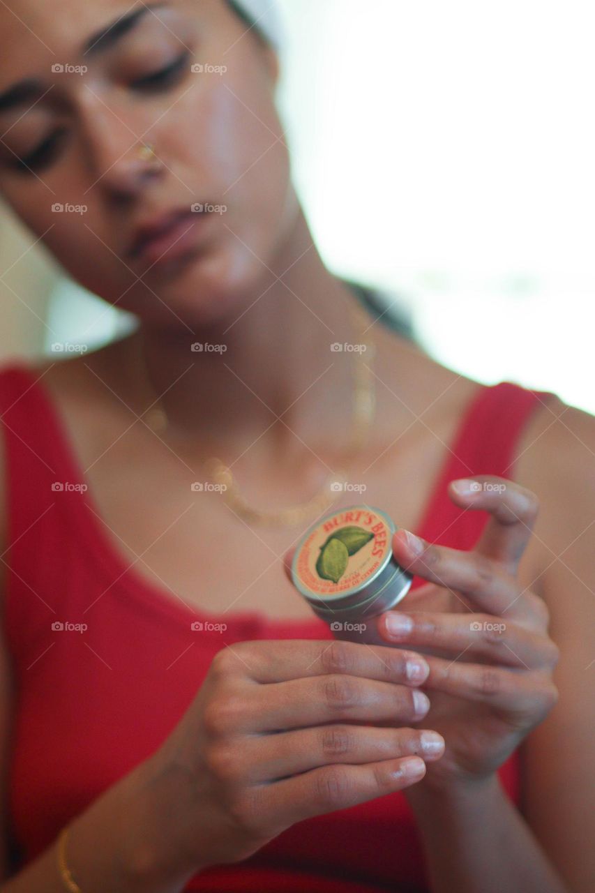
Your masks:
[[[428,672],[414,652],[336,640],[224,647],[150,758],[169,859],[238,862],[295,822],[421,780],[444,747],[410,726]]]

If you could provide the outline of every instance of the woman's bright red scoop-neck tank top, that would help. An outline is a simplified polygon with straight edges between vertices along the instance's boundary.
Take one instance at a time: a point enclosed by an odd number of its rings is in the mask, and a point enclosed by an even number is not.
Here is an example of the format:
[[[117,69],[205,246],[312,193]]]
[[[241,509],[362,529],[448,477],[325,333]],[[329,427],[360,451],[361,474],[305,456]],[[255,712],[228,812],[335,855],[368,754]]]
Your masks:
[[[473,547],[488,514],[457,508],[448,481],[482,473],[511,479],[517,438],[548,395],[508,381],[479,388],[415,532]],[[24,363],[0,370],[0,417],[10,547],[4,628],[17,690],[9,821],[21,867],[179,722],[223,647],[221,633],[206,631],[198,647],[191,622],[224,621],[226,644],[326,639],[331,632],[314,615],[277,622],[254,612],[190,612],[114,550],[89,494],[77,489],[84,476],[62,419],[43,380]],[[415,578],[413,586],[422,583]],[[88,630],[54,626],[65,623],[86,623]],[[499,777],[518,803],[516,753]],[[423,891],[428,880],[414,816],[395,793],[298,822],[244,862],[202,872],[187,889],[378,893]]]

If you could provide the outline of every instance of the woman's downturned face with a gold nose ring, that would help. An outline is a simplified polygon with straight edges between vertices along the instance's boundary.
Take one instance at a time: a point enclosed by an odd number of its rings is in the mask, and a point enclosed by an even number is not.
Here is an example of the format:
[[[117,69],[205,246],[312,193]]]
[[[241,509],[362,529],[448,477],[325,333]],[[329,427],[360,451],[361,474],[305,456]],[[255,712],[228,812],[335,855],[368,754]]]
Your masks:
[[[13,0],[0,33],[0,191],[21,220],[147,322],[239,309],[298,210],[272,51],[225,0]]]

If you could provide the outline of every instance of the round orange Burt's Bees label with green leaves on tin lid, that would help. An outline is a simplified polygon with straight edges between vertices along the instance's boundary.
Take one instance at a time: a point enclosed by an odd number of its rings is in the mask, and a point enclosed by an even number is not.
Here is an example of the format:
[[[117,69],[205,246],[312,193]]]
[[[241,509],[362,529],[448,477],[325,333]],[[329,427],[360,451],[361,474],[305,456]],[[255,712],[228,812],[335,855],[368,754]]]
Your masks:
[[[391,535],[386,519],[365,508],[327,516],[299,550],[295,566],[299,583],[325,598],[364,588],[387,563]]]

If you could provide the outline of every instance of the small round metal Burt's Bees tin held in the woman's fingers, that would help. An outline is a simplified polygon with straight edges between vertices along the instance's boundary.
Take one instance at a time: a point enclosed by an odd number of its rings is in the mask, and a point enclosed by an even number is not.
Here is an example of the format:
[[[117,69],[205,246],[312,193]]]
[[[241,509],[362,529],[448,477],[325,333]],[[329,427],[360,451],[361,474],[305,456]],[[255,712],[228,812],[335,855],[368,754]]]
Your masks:
[[[396,530],[381,509],[350,505],[325,515],[299,541],[291,578],[331,630],[375,617],[406,596],[413,574],[393,557]]]

